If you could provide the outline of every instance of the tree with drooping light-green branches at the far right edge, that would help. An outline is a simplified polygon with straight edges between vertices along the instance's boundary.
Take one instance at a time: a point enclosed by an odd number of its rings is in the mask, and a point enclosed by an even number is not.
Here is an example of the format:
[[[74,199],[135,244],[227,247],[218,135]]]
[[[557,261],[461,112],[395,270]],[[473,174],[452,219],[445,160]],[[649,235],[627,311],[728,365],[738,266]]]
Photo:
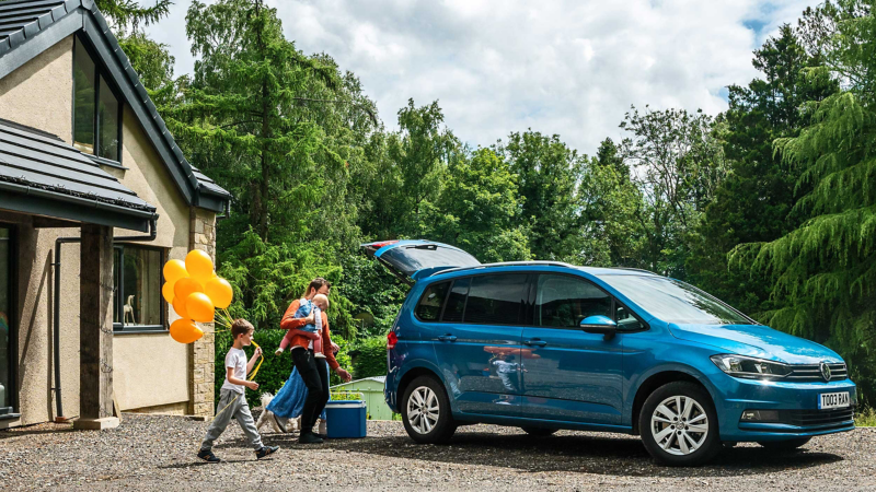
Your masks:
[[[794,206],[805,221],[782,237],[740,245],[733,260],[770,282],[776,307],[770,325],[827,343],[850,363],[864,401],[876,395],[876,17],[869,3],[828,2],[807,10],[805,39],[844,82],[814,109],[799,136],[776,151],[798,166]],[[818,33],[827,33],[819,39]]]

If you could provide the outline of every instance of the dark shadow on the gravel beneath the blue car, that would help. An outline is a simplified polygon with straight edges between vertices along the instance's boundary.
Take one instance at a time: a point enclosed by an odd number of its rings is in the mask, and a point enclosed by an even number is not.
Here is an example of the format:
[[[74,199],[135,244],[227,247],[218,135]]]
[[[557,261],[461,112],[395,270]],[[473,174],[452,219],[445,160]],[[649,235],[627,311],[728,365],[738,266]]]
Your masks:
[[[274,443],[274,444],[280,444]],[[842,460],[828,453],[779,454],[760,447],[723,452],[700,468],[669,468],[650,459],[638,438],[461,432],[448,445],[418,445],[408,437],[328,441],[318,447],[283,443],[287,449],[347,450],[393,458],[514,468],[522,472],[568,471],[631,477],[728,477],[803,469]],[[330,458],[331,459],[331,458]]]

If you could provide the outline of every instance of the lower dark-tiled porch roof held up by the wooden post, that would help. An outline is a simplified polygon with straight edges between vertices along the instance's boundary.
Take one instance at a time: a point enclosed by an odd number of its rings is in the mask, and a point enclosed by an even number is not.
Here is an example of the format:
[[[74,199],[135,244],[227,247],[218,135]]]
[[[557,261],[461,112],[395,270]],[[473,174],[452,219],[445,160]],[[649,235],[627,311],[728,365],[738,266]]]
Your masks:
[[[58,137],[0,119],[0,208],[146,232],[155,208]]]

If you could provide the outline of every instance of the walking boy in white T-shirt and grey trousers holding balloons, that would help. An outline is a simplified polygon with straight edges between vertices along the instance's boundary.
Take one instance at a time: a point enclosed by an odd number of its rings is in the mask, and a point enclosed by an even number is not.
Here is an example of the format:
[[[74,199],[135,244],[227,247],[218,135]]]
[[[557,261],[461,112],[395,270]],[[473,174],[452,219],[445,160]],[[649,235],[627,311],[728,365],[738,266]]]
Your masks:
[[[245,319],[235,319],[231,325],[231,337],[234,338],[234,344],[228,349],[228,354],[226,354],[226,380],[219,391],[219,405],[216,407],[216,411],[219,413],[207,429],[207,435],[200,444],[200,452],[198,452],[198,458],[207,462],[221,461],[212,454],[212,443],[224,432],[232,418],[238,420],[243,433],[249,437],[257,459],[279,449],[279,446],[262,444],[262,436],[258,435],[253,415],[250,413],[250,406],[243,395],[244,386],[253,391],[258,389],[258,383],[246,380],[246,374],[253,370],[253,364],[262,355],[262,349],[255,349],[253,360],[249,363],[246,362],[246,352],[243,351],[244,347],[252,344],[253,331],[255,328]]]

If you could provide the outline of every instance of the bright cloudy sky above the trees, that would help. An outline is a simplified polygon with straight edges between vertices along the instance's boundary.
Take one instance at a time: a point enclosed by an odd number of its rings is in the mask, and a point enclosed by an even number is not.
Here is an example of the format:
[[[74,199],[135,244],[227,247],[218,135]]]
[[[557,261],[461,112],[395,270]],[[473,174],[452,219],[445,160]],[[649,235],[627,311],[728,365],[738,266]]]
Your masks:
[[[148,1],[143,3],[149,3]],[[191,73],[189,0],[147,32]],[[211,1],[207,1],[211,3]],[[727,108],[727,85],[758,77],[751,51],[812,0],[266,0],[304,54],[362,82],[379,117],[438,101],[473,147],[512,131],[558,134],[593,154],[631,105]]]

